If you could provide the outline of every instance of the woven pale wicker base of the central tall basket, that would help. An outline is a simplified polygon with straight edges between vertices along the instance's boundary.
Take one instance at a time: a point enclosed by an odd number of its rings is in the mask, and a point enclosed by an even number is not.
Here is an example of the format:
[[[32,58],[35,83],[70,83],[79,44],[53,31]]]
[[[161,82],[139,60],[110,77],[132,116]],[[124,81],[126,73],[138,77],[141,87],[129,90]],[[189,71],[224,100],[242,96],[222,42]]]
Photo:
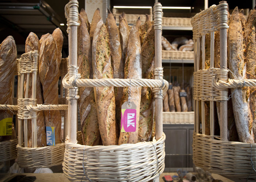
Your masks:
[[[164,141],[165,134],[158,141],[119,146],[66,142],[63,172],[70,181],[149,181],[164,170]]]

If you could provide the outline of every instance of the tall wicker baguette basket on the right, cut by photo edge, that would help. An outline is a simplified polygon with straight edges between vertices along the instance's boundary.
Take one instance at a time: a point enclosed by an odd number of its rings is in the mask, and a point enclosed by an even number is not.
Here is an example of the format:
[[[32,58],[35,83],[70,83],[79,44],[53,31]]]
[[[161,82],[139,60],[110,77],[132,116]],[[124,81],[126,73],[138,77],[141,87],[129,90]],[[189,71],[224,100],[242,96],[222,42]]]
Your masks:
[[[229,79],[227,67],[227,9],[226,1],[196,14],[191,24],[194,39],[194,104],[195,128],[193,133],[193,163],[210,173],[223,175],[234,181],[256,178],[253,162],[256,161],[256,144],[227,140],[228,88],[255,87],[256,80]],[[214,31],[220,32],[220,69],[214,68]],[[204,69],[205,35],[211,34],[211,65]],[[202,52],[200,52],[202,39]],[[203,69],[199,70],[202,54]],[[199,102],[210,101],[210,135],[205,135],[204,107],[202,107],[202,134],[200,130]],[[214,135],[214,102],[220,102],[220,136]]]

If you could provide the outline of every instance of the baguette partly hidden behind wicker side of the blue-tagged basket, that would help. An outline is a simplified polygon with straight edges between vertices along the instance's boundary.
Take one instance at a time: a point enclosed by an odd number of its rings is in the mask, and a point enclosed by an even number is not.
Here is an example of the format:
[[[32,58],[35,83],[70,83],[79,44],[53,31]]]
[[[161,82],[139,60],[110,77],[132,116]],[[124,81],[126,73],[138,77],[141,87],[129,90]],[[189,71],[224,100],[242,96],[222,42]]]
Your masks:
[[[37,35],[33,32],[29,33],[29,36],[26,39],[25,44],[25,52],[30,51],[40,51],[40,43]],[[24,79],[24,88],[26,92],[26,84],[27,79],[25,76]],[[41,90],[41,82],[39,77],[39,72],[37,72],[37,83],[36,83],[37,91],[36,91],[36,98],[37,98],[37,104],[43,103],[43,95]],[[32,97],[32,74],[30,74],[29,78],[29,98]],[[28,125],[28,132],[27,132],[27,145],[28,147],[32,147],[32,124],[31,119],[27,122]],[[44,111],[37,112],[37,147],[44,147],[46,146],[46,133],[45,133],[45,118],[44,118]]]

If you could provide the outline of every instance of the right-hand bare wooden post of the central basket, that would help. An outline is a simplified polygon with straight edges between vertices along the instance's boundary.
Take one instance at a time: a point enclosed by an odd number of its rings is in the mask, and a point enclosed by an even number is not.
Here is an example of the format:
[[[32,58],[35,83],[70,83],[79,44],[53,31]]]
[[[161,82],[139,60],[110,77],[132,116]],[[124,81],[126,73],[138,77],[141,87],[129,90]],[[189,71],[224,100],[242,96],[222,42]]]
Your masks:
[[[161,3],[155,3],[161,5]],[[155,8],[155,7],[154,7]],[[154,21],[157,21],[154,17]],[[154,22],[155,23],[155,22]],[[162,67],[162,29],[155,28],[155,67]],[[162,137],[163,133],[163,100],[155,98],[155,139]]]

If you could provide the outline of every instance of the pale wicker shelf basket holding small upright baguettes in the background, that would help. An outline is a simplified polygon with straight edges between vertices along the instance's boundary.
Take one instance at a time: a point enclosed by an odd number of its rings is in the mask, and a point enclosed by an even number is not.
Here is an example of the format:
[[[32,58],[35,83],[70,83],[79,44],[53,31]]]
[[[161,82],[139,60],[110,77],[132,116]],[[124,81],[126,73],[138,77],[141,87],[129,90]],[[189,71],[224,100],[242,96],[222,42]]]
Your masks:
[[[163,124],[194,124],[194,111],[163,112]]]

